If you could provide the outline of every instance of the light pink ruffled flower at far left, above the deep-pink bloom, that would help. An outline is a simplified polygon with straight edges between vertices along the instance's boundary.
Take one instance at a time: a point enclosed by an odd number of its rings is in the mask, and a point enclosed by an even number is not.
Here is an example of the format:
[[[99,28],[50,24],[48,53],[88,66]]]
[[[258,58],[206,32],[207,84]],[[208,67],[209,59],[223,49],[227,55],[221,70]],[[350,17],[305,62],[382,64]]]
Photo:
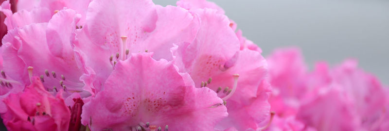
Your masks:
[[[56,94],[64,90],[65,98],[75,92],[83,98],[90,96],[90,86],[80,81],[80,77],[88,75],[88,68],[71,47],[79,17],[67,9],[56,13],[48,23],[9,31],[2,39],[2,65],[7,76],[21,85],[30,84],[31,76],[40,76],[48,91]],[[30,74],[27,66],[33,66],[34,72]]]

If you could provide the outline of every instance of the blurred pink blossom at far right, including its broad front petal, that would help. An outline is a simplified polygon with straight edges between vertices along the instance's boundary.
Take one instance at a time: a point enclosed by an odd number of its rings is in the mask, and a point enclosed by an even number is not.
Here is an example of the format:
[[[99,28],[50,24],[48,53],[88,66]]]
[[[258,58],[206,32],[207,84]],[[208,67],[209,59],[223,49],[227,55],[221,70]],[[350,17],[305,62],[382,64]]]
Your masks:
[[[388,95],[378,80],[358,69],[354,60],[346,60],[328,74],[332,81],[311,93],[318,97],[304,104],[298,116],[319,130],[378,130],[388,119]],[[326,105],[331,110],[320,108]],[[313,112],[326,117],[318,120]]]

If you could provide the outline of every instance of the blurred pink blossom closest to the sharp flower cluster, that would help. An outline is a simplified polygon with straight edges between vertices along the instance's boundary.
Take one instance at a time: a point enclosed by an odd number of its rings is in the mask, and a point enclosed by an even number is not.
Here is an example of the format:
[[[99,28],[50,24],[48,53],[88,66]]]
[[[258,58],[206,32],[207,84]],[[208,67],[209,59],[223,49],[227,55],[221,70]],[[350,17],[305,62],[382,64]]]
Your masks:
[[[295,115],[300,98],[306,92],[307,70],[299,49],[278,49],[267,57],[270,83],[273,87],[269,102],[279,116]]]

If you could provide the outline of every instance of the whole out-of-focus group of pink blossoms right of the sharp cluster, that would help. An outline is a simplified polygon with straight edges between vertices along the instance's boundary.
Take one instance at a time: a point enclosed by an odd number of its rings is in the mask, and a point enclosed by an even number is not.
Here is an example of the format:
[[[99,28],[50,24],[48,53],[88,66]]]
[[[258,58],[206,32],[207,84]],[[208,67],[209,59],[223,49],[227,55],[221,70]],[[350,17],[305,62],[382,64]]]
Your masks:
[[[388,94],[375,77],[358,69],[354,60],[332,69],[320,62],[307,72],[296,54],[296,49],[280,49],[267,59],[272,111],[296,115],[318,131],[382,130]]]

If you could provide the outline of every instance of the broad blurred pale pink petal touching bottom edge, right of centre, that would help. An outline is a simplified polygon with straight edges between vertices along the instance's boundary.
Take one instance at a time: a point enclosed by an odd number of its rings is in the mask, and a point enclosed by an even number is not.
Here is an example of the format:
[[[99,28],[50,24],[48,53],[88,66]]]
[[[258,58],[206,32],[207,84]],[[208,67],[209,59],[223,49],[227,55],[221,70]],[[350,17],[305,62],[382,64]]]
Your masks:
[[[315,98],[301,105],[297,118],[319,131],[354,131],[361,120],[339,86],[315,92]]]

